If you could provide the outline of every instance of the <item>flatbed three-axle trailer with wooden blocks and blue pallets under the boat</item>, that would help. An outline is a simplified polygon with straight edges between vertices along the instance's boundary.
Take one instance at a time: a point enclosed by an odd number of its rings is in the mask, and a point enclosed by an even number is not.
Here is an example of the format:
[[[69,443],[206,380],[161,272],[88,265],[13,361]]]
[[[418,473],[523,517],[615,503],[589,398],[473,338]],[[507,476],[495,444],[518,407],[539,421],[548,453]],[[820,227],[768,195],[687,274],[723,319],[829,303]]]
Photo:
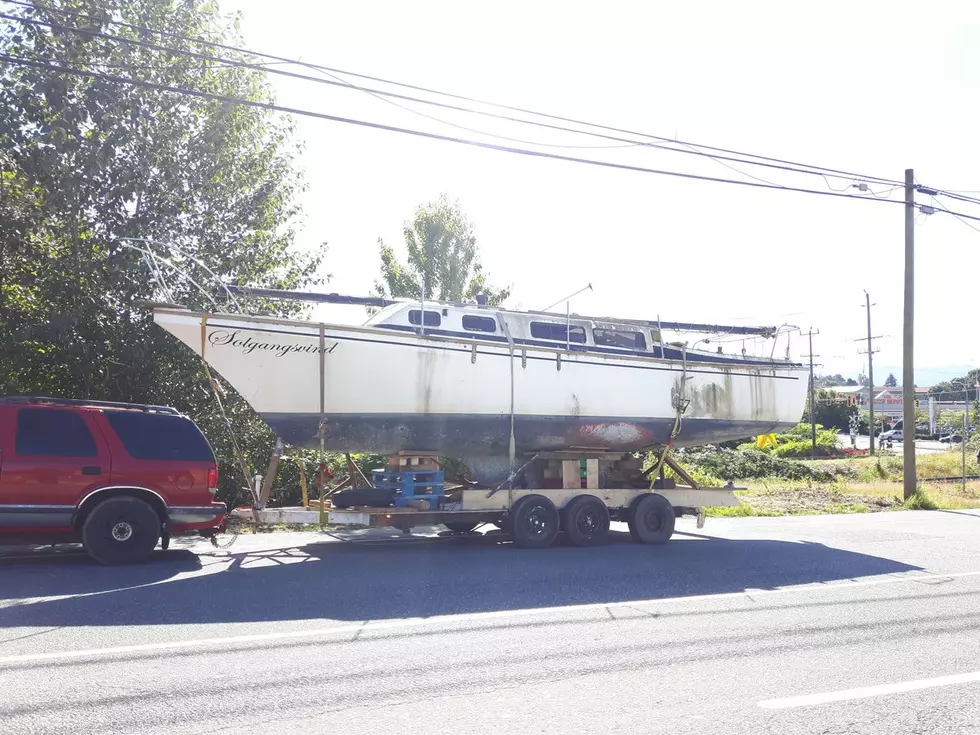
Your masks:
[[[518,546],[543,548],[559,533],[575,546],[602,543],[612,521],[625,522],[637,542],[662,544],[676,518],[695,516],[701,528],[705,507],[740,502],[734,487],[698,485],[669,454],[641,472],[641,459],[621,453],[539,453],[494,488],[447,484],[436,460],[433,453],[399,453],[371,473],[370,484],[352,469],[340,488],[303,507],[240,508],[232,515],[256,523],[395,528],[406,535],[439,524],[469,534],[491,524]],[[667,468],[680,484],[666,477]]]

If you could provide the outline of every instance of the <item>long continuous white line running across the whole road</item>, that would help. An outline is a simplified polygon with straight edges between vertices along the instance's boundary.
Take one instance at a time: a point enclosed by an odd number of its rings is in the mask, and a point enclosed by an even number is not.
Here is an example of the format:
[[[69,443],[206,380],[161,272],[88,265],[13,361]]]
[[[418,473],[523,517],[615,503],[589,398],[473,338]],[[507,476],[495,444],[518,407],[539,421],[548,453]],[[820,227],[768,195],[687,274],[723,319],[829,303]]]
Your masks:
[[[691,595],[688,597],[659,597],[649,600],[630,600],[628,602],[598,602],[586,605],[565,605],[558,607],[532,607],[519,610],[495,610],[492,612],[461,613],[457,615],[436,615],[430,618],[401,618],[398,620],[383,620],[378,622],[363,621],[353,625],[341,625],[332,628],[314,628],[304,630],[275,631],[272,633],[253,633],[247,635],[224,636],[220,638],[198,638],[184,641],[164,641],[160,643],[143,643],[133,646],[113,646],[110,648],[90,648],[77,651],[52,651],[49,653],[28,653],[17,656],[0,656],[0,665],[30,663],[33,661],[55,661],[77,658],[92,658],[97,656],[113,656],[127,653],[147,653],[154,651],[173,651],[184,648],[204,648],[230,646],[242,643],[263,643],[269,641],[295,640],[299,638],[323,638],[328,636],[372,633],[376,631],[399,630],[402,628],[436,627],[453,623],[478,623],[492,620],[508,620],[531,615],[554,615],[582,613],[591,611],[614,610],[616,608],[651,607],[654,605],[670,605],[707,602],[713,600],[747,599],[755,601],[760,597],[782,594],[804,594],[809,592],[834,592],[837,590],[854,589],[856,587],[878,587],[882,585],[902,584],[905,582],[922,583],[935,577],[943,579],[961,579],[980,576],[980,570],[973,572],[954,572],[952,574],[934,575],[931,573],[888,576],[884,578],[865,579],[835,584],[799,585],[795,587],[777,587],[771,590],[751,590],[751,594],[743,592],[719,592],[711,595]]]

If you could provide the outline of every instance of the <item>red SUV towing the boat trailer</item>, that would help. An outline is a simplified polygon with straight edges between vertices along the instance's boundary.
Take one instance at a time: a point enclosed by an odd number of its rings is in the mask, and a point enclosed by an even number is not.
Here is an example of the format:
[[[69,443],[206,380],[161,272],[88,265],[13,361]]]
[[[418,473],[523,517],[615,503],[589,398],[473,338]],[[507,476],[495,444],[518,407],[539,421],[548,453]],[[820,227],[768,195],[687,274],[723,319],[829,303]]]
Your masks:
[[[146,559],[174,535],[213,536],[218,466],[165,406],[0,398],[0,539],[77,542],[103,564]]]

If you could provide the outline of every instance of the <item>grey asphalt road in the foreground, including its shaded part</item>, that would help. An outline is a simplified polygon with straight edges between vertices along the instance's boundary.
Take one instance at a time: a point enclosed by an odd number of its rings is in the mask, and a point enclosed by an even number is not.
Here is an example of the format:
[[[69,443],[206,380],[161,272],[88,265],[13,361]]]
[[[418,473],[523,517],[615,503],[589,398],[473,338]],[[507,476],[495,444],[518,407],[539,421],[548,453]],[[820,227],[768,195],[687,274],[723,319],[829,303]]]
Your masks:
[[[679,528],[8,557],[0,731],[980,732],[980,515]]]

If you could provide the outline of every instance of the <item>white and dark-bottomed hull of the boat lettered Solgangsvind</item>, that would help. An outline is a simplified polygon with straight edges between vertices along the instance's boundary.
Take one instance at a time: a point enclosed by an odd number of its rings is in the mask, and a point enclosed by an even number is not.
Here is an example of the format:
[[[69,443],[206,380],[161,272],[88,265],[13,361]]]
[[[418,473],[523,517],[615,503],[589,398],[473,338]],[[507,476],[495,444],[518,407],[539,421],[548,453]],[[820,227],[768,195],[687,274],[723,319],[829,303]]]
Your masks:
[[[319,445],[321,325],[171,309],[154,319],[203,355],[283,441]],[[322,328],[324,441],[335,451],[506,457],[512,415],[518,454],[633,451],[670,438],[672,391],[690,400],[675,443],[714,443],[795,425],[807,390],[805,372],[791,365],[512,352],[499,342]]]

